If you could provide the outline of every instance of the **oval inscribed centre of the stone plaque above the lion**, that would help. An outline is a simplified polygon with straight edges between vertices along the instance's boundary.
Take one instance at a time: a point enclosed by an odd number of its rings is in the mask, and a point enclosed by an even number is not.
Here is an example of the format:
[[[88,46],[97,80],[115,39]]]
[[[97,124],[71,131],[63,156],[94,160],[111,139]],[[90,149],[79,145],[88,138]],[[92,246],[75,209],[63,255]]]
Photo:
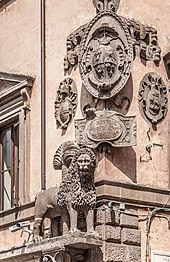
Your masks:
[[[121,136],[122,132],[121,124],[115,119],[96,119],[86,127],[86,134],[93,141],[116,140]]]

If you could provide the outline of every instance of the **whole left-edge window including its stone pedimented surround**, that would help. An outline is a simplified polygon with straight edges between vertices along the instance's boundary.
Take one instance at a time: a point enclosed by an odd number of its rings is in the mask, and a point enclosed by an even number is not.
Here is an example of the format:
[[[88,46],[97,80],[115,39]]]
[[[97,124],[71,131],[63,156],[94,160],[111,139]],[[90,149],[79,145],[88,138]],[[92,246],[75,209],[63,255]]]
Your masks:
[[[29,201],[29,100],[33,79],[0,72],[0,211]]]

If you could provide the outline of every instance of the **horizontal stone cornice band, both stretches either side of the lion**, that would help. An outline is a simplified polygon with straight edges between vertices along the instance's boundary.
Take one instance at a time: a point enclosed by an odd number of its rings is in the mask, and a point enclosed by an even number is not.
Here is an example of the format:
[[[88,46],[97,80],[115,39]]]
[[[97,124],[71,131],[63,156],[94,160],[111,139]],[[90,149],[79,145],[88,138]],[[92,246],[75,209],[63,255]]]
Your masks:
[[[170,190],[154,187],[147,187],[137,184],[126,184],[111,181],[96,182],[97,199],[106,199],[115,202],[138,206],[142,208],[163,207],[170,208]],[[169,199],[169,202],[167,202]],[[19,221],[34,219],[35,202],[30,202],[20,207],[11,208],[0,212],[0,229],[8,228]],[[16,214],[20,216],[16,220]]]

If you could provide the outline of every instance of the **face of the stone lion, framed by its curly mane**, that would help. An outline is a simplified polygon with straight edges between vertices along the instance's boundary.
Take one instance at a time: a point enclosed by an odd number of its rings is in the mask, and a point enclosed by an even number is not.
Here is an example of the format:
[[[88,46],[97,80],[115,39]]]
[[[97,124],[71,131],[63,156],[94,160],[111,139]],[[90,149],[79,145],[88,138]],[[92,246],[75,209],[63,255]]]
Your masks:
[[[92,168],[91,157],[88,154],[81,154],[77,159],[77,165],[81,176],[88,175]]]

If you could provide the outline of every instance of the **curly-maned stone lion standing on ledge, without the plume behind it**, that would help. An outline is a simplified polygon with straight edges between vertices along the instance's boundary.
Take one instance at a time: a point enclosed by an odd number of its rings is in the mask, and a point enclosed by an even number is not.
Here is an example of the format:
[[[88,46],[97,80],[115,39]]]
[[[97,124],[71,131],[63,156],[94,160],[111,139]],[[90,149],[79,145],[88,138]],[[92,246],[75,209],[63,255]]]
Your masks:
[[[75,151],[68,173],[60,187],[52,187],[40,193],[35,202],[34,240],[42,237],[42,222],[61,217],[63,234],[78,231],[78,214],[84,214],[88,233],[94,232],[93,210],[96,204],[94,171],[96,157],[89,148]]]

